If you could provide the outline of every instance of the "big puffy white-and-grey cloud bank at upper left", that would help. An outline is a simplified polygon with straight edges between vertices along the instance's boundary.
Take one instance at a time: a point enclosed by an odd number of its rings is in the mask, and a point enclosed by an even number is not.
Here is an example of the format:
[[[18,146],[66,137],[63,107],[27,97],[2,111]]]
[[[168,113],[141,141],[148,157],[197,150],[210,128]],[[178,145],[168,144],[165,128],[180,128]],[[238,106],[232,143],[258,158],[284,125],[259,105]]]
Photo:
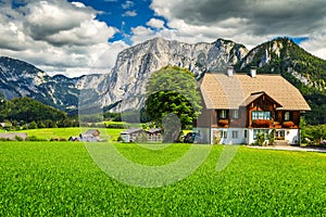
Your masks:
[[[117,52],[128,46],[108,42],[117,29],[97,21],[97,13],[65,0],[28,1],[18,10],[2,3],[0,55],[27,61],[52,74],[108,73]]]

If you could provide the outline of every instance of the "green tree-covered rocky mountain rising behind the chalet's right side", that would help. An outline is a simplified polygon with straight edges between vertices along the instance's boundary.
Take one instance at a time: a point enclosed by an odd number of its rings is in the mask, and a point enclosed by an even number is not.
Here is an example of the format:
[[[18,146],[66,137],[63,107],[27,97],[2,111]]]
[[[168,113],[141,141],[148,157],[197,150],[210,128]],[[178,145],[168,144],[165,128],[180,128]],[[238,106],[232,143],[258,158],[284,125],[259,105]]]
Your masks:
[[[306,52],[291,39],[278,38],[252,49],[238,64],[237,71],[259,74],[281,74],[303,94],[312,112],[305,114],[310,124],[326,123],[326,61]]]

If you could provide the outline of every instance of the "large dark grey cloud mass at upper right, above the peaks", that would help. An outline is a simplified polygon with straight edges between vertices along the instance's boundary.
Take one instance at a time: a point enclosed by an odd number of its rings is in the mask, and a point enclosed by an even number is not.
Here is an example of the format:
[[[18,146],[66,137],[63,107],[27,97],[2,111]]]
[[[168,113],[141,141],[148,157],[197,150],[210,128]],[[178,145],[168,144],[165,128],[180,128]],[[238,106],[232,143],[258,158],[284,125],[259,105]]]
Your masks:
[[[311,40],[301,46],[323,59],[326,43],[321,39],[321,31],[326,28],[325,8],[324,0],[246,0],[241,3],[228,0],[153,0],[151,3],[155,15],[164,17],[170,27],[156,33],[158,36],[167,35],[185,42],[226,38],[249,49],[279,36],[303,36]]]

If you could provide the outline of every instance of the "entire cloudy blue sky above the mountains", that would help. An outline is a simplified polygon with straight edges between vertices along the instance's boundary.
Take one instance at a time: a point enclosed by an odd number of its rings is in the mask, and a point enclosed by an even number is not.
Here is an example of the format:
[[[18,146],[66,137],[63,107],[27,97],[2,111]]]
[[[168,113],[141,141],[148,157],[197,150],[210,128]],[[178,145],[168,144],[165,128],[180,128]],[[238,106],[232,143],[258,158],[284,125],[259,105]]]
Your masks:
[[[50,75],[110,73],[120,51],[155,37],[248,49],[291,37],[326,60],[326,1],[0,0],[0,55]]]

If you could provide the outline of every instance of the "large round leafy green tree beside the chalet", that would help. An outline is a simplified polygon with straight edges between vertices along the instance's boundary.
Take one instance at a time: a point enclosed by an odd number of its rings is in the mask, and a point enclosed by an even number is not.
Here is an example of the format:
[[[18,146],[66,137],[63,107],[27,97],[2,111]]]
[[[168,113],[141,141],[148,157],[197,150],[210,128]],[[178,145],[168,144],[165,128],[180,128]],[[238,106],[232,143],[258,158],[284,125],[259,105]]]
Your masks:
[[[174,114],[181,128],[200,114],[201,98],[193,74],[177,66],[166,66],[153,73],[146,88],[146,113],[158,126],[163,118]]]

